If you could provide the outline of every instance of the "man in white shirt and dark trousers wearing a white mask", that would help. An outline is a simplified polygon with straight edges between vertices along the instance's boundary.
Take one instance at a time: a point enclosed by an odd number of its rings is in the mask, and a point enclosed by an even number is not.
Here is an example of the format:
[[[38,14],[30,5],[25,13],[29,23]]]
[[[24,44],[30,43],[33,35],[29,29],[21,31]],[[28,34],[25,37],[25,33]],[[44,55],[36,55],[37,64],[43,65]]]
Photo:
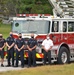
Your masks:
[[[51,64],[52,47],[53,47],[53,41],[50,39],[49,35],[47,35],[46,39],[42,42],[42,48],[44,53],[44,65],[46,65],[47,57],[48,57],[48,64]]]

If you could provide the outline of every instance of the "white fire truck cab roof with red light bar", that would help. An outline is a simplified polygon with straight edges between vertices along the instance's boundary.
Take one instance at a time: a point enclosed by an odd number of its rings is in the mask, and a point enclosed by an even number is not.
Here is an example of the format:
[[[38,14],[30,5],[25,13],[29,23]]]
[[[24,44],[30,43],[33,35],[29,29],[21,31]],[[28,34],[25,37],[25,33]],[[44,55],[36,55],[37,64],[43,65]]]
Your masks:
[[[50,14],[17,14],[13,20],[74,20],[74,18],[54,17]]]

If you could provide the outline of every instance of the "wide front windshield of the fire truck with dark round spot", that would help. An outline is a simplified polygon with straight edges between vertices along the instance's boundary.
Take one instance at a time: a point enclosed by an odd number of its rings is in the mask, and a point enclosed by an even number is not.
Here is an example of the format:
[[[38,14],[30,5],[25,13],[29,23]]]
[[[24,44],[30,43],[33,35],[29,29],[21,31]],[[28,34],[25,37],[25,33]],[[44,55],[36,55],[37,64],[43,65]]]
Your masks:
[[[45,20],[14,20],[12,31],[17,33],[47,34],[50,22]]]

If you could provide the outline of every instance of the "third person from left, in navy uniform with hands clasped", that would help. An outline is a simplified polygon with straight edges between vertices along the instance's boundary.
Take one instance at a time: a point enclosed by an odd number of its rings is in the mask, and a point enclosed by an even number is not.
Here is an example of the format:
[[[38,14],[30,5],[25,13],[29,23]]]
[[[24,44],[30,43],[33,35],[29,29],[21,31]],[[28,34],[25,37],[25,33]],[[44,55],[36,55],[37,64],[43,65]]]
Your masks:
[[[15,43],[15,47],[16,47],[16,65],[15,67],[18,67],[18,60],[19,60],[19,55],[20,55],[21,67],[24,68],[24,46],[25,46],[24,39],[22,38],[21,33],[19,33],[19,38],[16,40],[16,43]]]

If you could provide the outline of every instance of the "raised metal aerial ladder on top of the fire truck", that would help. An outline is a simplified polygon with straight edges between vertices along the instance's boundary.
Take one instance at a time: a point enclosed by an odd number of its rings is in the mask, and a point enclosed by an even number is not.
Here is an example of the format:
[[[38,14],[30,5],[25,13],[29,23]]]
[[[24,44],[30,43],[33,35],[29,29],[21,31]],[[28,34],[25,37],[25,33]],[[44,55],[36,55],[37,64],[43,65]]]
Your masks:
[[[74,0],[48,0],[55,17],[74,18]]]

